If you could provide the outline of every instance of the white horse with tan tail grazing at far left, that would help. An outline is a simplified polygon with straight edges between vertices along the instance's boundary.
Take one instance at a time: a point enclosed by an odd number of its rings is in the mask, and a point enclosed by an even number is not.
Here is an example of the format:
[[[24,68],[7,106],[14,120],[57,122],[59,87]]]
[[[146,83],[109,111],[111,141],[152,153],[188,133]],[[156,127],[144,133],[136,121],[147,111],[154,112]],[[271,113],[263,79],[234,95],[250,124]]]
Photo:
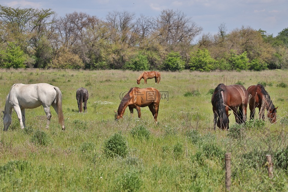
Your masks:
[[[51,112],[50,106],[54,108],[58,115],[59,123],[64,127],[64,116],[62,112],[62,94],[58,87],[47,83],[12,85],[6,98],[5,110],[3,111],[3,131],[7,131],[12,122],[12,108],[15,110],[21,129],[25,127],[25,109],[34,109],[43,106],[47,117],[46,129],[49,128]]]

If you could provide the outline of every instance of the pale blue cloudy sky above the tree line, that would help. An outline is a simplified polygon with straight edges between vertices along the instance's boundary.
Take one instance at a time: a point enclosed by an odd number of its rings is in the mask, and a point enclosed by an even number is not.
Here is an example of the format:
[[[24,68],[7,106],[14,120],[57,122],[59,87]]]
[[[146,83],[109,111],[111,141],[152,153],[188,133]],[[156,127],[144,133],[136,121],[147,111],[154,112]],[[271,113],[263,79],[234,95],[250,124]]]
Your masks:
[[[35,9],[51,8],[59,16],[66,13],[84,12],[105,18],[109,12],[128,11],[136,16],[159,16],[164,9],[180,10],[198,26],[202,34],[218,32],[224,23],[228,32],[241,26],[265,30],[277,36],[288,27],[287,0],[0,0],[2,6]]]

